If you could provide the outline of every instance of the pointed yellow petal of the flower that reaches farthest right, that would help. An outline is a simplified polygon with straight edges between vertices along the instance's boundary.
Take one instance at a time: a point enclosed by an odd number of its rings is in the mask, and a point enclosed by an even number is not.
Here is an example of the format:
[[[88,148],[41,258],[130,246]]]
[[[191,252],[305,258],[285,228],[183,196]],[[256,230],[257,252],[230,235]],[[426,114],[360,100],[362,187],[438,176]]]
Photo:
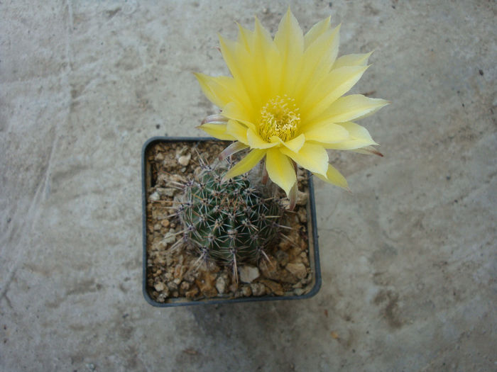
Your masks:
[[[367,115],[375,113],[383,106],[388,105],[388,101],[381,98],[368,98],[361,94],[351,94],[334,101],[329,108],[319,117],[312,121],[330,121],[332,123],[343,123],[345,121],[365,118]]]

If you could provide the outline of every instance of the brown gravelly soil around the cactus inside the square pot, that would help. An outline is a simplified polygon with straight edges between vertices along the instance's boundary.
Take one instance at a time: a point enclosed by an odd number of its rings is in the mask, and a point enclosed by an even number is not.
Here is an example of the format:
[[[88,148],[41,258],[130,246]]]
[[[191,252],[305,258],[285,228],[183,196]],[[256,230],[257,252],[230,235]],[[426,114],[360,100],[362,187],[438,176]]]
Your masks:
[[[307,218],[307,174],[298,170],[299,196],[286,211],[280,235],[258,264],[238,264],[236,282],[231,266],[200,261],[195,249],[180,246],[182,226],[175,206],[177,183],[200,171],[202,159],[211,164],[230,142],[154,142],[145,154],[146,169],[146,291],[157,303],[176,300],[226,299],[260,296],[300,296],[315,285]],[[201,159],[200,159],[201,158]],[[236,159],[235,159],[236,160]],[[253,185],[256,186],[256,185]],[[277,191],[278,192],[278,191]],[[282,191],[279,191],[282,197]],[[178,245],[178,244],[177,244]]]

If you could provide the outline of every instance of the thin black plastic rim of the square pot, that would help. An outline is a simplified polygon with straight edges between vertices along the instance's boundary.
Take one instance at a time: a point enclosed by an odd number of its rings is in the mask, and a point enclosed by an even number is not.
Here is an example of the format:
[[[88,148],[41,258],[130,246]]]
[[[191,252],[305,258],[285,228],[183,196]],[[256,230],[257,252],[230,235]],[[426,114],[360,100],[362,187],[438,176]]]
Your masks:
[[[151,167],[148,166],[148,151],[157,143],[173,143],[173,142],[202,142],[202,141],[217,141],[211,137],[152,137],[143,145],[141,152],[141,198],[142,198],[142,213],[143,213],[143,296],[146,301],[153,306],[159,308],[168,308],[174,306],[186,305],[204,305],[204,304],[219,304],[219,303],[242,303],[249,301],[273,301],[273,300],[300,300],[310,298],[315,295],[321,287],[321,270],[320,270],[320,254],[319,244],[317,241],[317,225],[316,225],[316,210],[314,186],[312,184],[312,176],[309,174],[309,198],[307,201],[307,242],[309,242],[309,261],[313,274],[312,288],[302,295],[265,295],[261,297],[241,297],[241,298],[207,298],[204,300],[189,300],[187,298],[168,298],[167,302],[159,303],[151,298],[147,287],[147,189],[150,187]]]

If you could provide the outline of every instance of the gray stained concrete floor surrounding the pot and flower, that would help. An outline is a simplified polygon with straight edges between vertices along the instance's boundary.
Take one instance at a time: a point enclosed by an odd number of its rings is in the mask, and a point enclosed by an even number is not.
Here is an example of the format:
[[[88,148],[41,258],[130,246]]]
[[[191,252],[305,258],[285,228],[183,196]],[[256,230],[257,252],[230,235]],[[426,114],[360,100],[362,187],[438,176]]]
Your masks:
[[[310,300],[152,308],[141,145],[202,135],[217,32],[286,1],[1,1],[1,371],[496,371],[496,3],[290,1],[332,15],[384,158],[317,182]],[[492,351],[493,350],[493,351]]]

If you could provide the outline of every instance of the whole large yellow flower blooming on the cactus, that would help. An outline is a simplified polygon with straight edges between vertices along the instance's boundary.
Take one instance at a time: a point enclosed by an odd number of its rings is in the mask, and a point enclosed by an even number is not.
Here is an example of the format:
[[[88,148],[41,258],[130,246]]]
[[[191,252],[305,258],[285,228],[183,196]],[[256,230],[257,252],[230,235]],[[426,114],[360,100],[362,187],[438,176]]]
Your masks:
[[[257,18],[253,31],[239,26],[238,40],[221,35],[219,40],[232,77],[195,75],[207,98],[222,110],[200,128],[236,141],[224,155],[250,149],[226,177],[245,173],[266,157],[269,178],[289,196],[296,194],[295,163],[347,188],[344,176],[328,163],[327,149],[374,152],[370,146],[377,144],[368,130],[351,120],[388,102],[343,96],[368,68],[371,53],[337,59],[339,26],[331,28],[327,18],[303,35],[290,9],[274,40]]]

